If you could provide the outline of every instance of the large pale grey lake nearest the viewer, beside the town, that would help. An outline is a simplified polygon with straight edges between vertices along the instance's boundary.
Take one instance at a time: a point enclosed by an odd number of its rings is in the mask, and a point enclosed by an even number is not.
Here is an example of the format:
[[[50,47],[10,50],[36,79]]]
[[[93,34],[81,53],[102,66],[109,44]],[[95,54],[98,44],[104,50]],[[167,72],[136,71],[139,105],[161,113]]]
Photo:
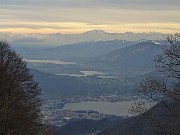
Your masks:
[[[117,103],[111,102],[80,102],[66,104],[63,109],[77,110],[94,110],[103,114],[111,114],[116,116],[131,116],[129,109],[135,101],[123,101]]]

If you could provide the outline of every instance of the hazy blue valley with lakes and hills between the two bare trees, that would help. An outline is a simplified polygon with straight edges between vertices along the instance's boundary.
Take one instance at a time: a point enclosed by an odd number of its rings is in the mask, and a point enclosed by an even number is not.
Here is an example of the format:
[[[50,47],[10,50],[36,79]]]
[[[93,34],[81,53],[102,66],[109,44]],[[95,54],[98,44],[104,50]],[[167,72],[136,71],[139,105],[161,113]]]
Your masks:
[[[136,84],[156,74],[151,63],[161,48],[154,41],[112,40],[18,51],[42,89],[44,121],[62,131],[78,120],[131,117],[130,107],[140,100]]]

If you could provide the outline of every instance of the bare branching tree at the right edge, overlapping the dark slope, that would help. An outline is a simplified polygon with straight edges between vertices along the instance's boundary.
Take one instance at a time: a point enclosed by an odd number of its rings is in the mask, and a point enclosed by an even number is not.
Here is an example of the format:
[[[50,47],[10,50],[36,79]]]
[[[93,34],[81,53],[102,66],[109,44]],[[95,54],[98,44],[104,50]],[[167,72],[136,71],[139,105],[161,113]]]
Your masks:
[[[148,77],[140,82],[136,93],[150,102],[158,102],[150,110],[145,102],[135,103],[131,111],[143,114],[164,134],[180,135],[180,34],[169,35],[162,54],[154,58],[163,77]]]

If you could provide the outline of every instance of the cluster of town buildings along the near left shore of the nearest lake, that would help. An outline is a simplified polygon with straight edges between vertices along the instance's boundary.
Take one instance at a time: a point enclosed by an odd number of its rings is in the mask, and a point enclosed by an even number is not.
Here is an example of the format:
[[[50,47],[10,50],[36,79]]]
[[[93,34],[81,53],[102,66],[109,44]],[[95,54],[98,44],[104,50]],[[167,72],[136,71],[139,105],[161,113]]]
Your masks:
[[[56,104],[58,104],[56,102]],[[60,104],[60,103],[59,103]],[[43,115],[45,123],[49,123],[55,126],[63,126],[70,121],[80,120],[80,119],[91,119],[91,120],[101,120],[105,115],[93,110],[84,111],[71,111],[59,108],[57,105],[51,102],[47,102],[43,106]]]

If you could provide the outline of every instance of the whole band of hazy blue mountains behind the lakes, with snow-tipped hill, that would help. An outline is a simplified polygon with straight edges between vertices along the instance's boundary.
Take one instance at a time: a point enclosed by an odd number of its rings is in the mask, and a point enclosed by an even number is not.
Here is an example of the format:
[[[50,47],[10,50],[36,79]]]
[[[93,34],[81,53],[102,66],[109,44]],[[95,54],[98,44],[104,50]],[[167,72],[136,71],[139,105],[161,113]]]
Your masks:
[[[154,70],[154,56],[165,47],[161,42],[97,41],[63,45],[47,49],[16,48],[27,60],[63,60],[74,65],[42,63],[32,68],[42,71],[59,70],[58,74],[80,74],[81,71],[101,71],[118,75],[143,75]],[[53,68],[52,68],[53,67]],[[47,69],[47,70],[44,70]],[[61,70],[61,71],[60,71]],[[54,71],[52,73],[55,73]]]

